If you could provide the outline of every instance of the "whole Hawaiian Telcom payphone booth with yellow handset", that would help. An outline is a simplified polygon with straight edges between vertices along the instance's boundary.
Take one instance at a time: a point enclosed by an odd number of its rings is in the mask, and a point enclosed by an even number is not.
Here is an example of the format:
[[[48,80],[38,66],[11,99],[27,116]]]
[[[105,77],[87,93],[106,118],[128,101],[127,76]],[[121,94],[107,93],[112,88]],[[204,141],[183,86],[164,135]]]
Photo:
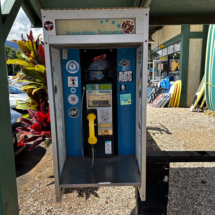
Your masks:
[[[145,200],[148,8],[42,10],[56,198],[136,186]]]

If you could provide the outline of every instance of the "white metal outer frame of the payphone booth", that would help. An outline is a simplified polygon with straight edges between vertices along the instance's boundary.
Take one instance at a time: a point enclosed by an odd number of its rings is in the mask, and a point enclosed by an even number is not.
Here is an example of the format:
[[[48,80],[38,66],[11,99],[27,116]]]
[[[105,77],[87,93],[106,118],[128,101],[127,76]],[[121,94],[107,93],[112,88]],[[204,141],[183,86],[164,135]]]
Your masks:
[[[113,35],[56,35],[55,20],[59,19],[102,19],[102,18],[136,18],[136,34],[113,34]],[[147,70],[148,70],[148,27],[149,27],[149,8],[116,8],[116,9],[71,9],[71,10],[42,10],[43,25],[46,21],[54,23],[52,31],[44,32],[46,70],[48,81],[49,106],[51,115],[51,133],[52,133],[52,148],[54,162],[54,176],[56,200],[60,201],[63,189],[60,186],[60,171],[58,161],[58,146],[57,146],[57,126],[54,104],[54,84],[53,72],[51,63],[51,47],[61,46],[66,48],[67,45],[79,47],[80,45],[95,45],[99,47],[101,44],[120,45],[134,44],[136,47],[136,56],[142,52],[141,58],[136,60],[136,70],[138,69],[139,61],[142,61],[142,119],[141,125],[138,125],[138,105],[136,103],[136,135],[135,146],[137,153],[137,142],[140,139],[140,159],[139,170],[141,174],[141,185],[138,187],[140,198],[145,200],[146,194],[146,98],[147,98]],[[137,48],[137,44],[138,47]],[[139,50],[138,50],[139,49]],[[142,50],[141,50],[142,49]],[[141,50],[141,51],[140,51]],[[62,78],[62,77],[59,77]],[[138,78],[138,77],[137,77]],[[137,80],[136,80],[137,83]],[[139,96],[139,90],[136,87],[136,97]],[[138,134],[137,128],[140,128],[141,134]],[[65,129],[64,129],[65,131]],[[65,134],[64,134],[65,135]],[[140,137],[139,137],[140,136]],[[66,146],[65,146],[66,150]],[[66,155],[65,155],[66,156]],[[135,155],[137,157],[137,154]],[[64,158],[66,159],[66,157]],[[98,184],[97,186],[102,186]],[[107,186],[107,185],[104,185]]]

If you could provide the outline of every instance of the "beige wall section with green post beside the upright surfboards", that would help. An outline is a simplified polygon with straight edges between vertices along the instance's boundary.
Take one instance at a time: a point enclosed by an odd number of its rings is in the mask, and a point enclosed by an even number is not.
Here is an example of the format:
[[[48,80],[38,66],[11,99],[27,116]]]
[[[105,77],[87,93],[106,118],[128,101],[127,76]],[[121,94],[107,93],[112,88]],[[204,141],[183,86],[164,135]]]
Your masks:
[[[184,25],[181,33],[181,107],[190,107],[204,75],[208,25]]]

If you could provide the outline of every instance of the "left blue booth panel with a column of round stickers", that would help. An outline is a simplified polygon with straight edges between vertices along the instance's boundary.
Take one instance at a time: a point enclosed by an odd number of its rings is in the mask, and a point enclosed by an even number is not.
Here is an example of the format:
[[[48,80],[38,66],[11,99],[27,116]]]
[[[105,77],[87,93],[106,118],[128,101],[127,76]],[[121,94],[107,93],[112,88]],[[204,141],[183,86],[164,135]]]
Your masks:
[[[79,49],[62,49],[61,54],[67,156],[81,156],[80,126],[82,95],[80,52]]]

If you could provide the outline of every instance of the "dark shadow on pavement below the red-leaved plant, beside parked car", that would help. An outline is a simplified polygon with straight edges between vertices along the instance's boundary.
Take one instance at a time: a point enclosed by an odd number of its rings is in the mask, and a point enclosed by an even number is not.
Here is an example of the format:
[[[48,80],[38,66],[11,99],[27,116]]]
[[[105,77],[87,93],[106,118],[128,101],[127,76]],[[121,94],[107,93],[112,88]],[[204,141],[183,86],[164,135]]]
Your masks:
[[[31,144],[26,144],[26,149],[30,146]],[[26,149],[15,158],[16,177],[20,177],[31,171],[46,154],[46,149],[41,146],[38,146],[31,151]]]

